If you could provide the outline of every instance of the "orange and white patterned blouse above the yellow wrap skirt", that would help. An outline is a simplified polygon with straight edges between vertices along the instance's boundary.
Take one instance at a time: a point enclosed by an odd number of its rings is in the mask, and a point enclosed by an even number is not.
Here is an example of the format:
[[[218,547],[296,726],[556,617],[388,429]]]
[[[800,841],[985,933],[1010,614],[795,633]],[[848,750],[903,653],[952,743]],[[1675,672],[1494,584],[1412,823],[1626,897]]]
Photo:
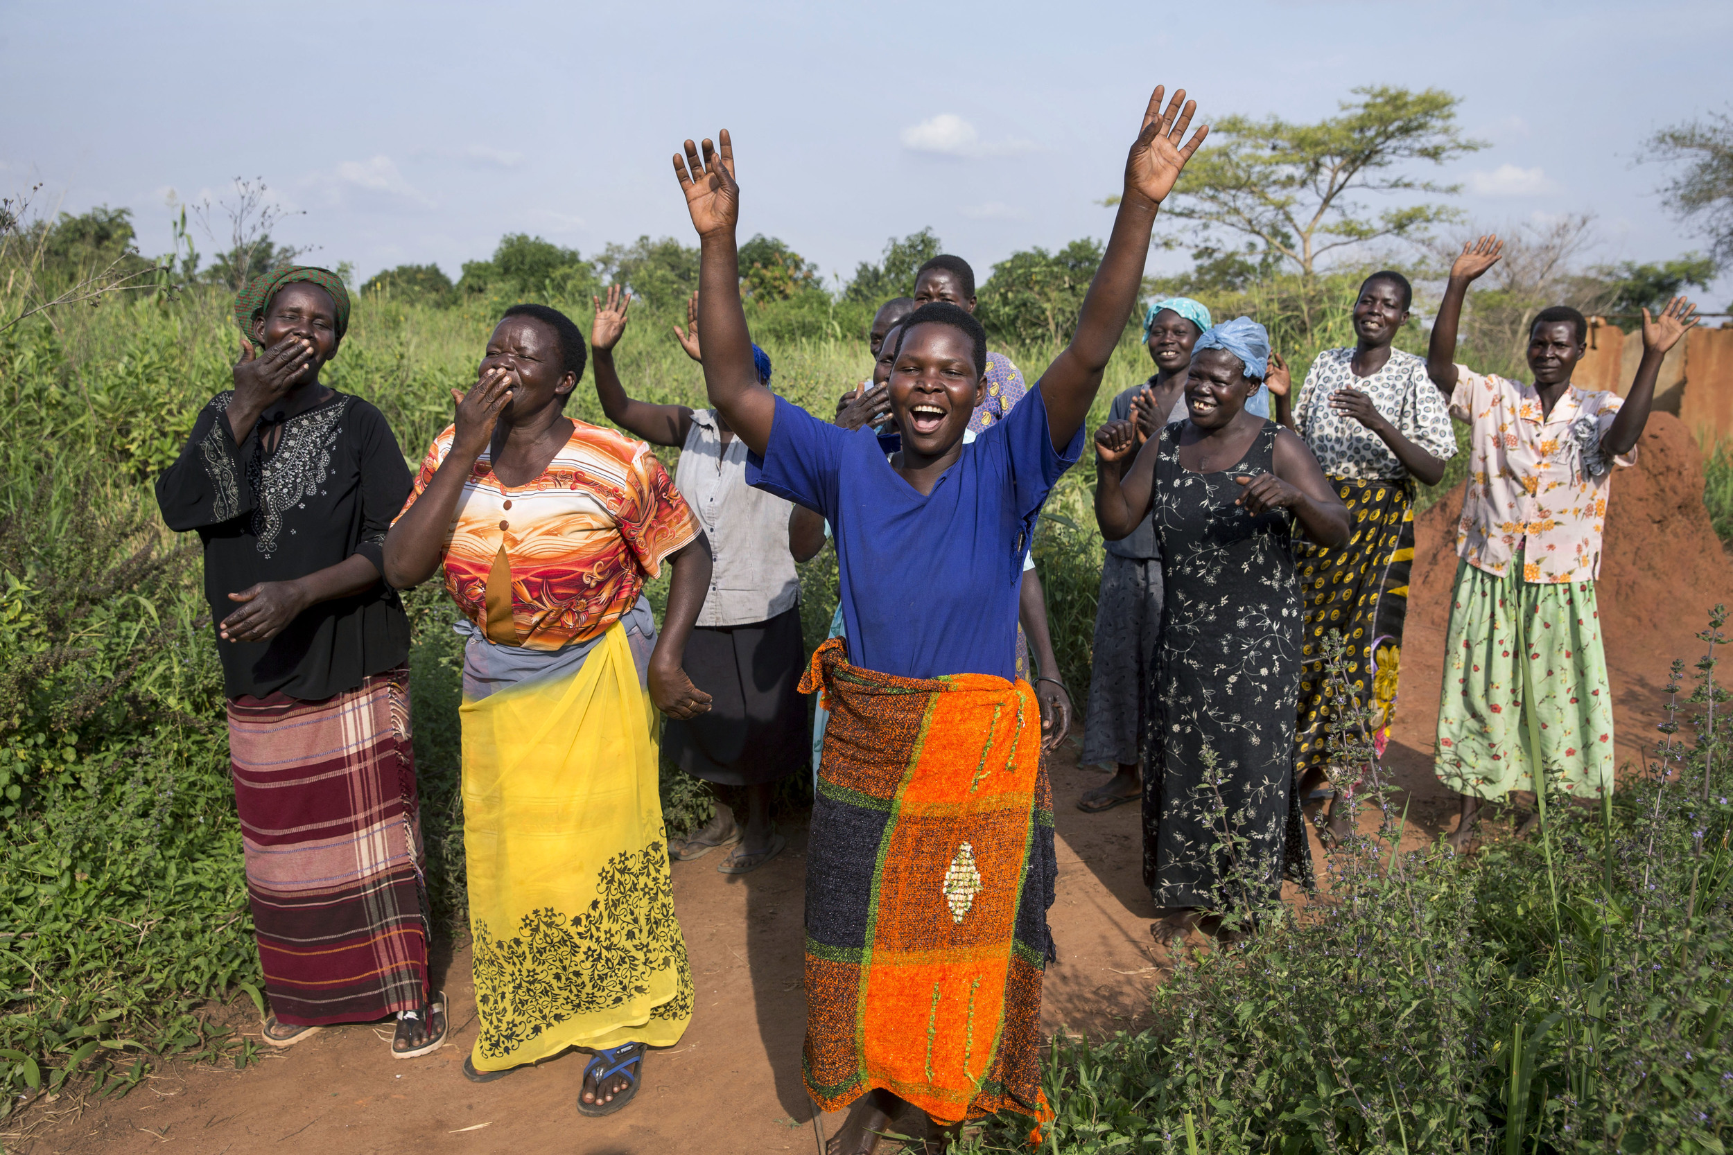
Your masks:
[[[529,485],[506,487],[484,452],[463,483],[444,545],[445,590],[494,642],[560,649],[598,637],[633,608],[698,519],[650,447],[572,423],[572,438]],[[433,438],[416,504],[456,426]],[[402,514],[399,514],[402,516]]]

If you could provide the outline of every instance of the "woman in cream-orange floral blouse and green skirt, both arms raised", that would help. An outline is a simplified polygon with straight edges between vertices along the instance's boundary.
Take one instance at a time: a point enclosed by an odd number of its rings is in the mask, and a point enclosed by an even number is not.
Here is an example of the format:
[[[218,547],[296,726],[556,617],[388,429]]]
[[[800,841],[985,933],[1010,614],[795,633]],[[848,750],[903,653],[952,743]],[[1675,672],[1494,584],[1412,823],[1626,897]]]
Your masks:
[[[1431,331],[1426,372],[1470,426],[1468,490],[1456,528],[1437,774],[1463,797],[1451,847],[1466,850],[1483,798],[1535,790],[1534,764],[1565,795],[1613,788],[1613,710],[1594,578],[1612,466],[1634,464],[1655,377],[1697,324],[1683,296],[1650,319],[1631,391],[1579,390],[1587,322],[1541,310],[1529,329],[1534,384],[1454,362],[1471,281],[1499,260],[1497,237],[1464,244]],[[1523,660],[1525,658],[1525,660]]]

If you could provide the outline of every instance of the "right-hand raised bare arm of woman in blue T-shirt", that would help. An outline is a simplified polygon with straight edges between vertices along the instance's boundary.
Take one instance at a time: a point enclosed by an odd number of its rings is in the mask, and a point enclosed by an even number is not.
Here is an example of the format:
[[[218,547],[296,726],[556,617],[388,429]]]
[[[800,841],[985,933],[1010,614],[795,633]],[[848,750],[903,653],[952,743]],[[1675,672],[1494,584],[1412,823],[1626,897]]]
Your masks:
[[[1185,140],[1198,102],[1187,100],[1180,88],[1163,113],[1163,92],[1165,87],[1156,85],[1149,107],[1144,109],[1144,126],[1125,159],[1120,211],[1113,218],[1107,253],[1083,298],[1076,332],[1036,383],[1047,405],[1047,428],[1054,445],[1069,443],[1088,416],[1095,391],[1100,390],[1100,374],[1125,334],[1125,322],[1144,286],[1144,261],[1149,260],[1149,230],[1156,223],[1156,210],[1173,190],[1185,161],[1210,135],[1210,126],[1203,125]]]

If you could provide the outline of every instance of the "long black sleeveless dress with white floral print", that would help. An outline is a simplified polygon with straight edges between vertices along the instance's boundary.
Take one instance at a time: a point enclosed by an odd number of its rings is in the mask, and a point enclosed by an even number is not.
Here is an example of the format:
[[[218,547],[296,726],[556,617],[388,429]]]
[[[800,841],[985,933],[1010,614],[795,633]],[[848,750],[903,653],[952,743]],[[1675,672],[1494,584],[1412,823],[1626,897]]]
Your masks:
[[[1184,428],[1161,433],[1151,511],[1166,601],[1144,885],[1156,906],[1229,911],[1279,899],[1282,878],[1312,880],[1293,788],[1305,610],[1293,514],[1253,518],[1234,504],[1244,492],[1234,478],[1272,471],[1279,426],[1265,421],[1222,473],[1180,464]]]

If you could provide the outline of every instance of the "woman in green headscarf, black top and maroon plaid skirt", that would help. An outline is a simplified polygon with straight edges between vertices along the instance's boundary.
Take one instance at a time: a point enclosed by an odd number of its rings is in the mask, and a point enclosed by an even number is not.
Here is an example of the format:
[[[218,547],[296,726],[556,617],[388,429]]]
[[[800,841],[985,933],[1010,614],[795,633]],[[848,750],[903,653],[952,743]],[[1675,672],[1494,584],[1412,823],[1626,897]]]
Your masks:
[[[234,313],[234,390],[199,410],[156,500],[204,545],[263,1039],[395,1015],[392,1053],[428,1055],[445,1010],[428,990],[409,622],[380,578],[409,466],[378,409],[319,381],[348,329],[336,274],[267,274]]]

